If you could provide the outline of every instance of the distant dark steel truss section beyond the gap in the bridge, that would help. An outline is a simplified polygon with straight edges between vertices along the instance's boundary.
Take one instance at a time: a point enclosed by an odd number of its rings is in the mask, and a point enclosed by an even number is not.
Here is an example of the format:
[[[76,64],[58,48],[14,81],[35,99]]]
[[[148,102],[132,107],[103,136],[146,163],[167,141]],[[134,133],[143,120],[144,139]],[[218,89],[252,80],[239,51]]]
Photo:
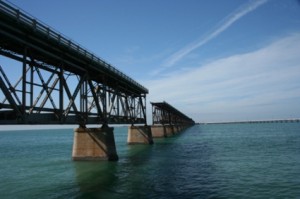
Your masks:
[[[167,102],[151,102],[153,124],[193,125],[195,122]]]

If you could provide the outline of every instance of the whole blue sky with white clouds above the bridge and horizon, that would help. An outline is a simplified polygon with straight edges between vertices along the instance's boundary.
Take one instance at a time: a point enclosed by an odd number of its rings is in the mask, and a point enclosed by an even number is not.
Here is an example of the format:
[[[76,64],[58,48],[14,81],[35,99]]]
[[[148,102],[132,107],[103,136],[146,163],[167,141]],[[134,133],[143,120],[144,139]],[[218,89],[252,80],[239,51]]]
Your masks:
[[[300,118],[299,0],[10,0],[196,122]]]

